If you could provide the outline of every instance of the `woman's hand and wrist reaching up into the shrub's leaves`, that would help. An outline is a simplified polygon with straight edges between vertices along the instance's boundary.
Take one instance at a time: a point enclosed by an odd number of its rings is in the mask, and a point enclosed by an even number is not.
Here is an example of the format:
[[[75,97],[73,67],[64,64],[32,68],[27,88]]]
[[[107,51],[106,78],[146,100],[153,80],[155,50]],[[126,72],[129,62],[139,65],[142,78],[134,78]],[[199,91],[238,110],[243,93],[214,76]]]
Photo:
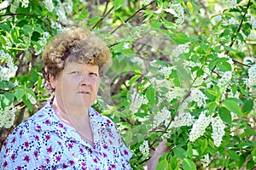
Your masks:
[[[169,150],[169,146],[166,146],[167,141],[162,141],[157,146],[156,150],[154,151],[153,156],[148,160],[148,163],[144,166],[145,170],[154,170],[159,162],[160,156],[163,156],[167,150]]]

